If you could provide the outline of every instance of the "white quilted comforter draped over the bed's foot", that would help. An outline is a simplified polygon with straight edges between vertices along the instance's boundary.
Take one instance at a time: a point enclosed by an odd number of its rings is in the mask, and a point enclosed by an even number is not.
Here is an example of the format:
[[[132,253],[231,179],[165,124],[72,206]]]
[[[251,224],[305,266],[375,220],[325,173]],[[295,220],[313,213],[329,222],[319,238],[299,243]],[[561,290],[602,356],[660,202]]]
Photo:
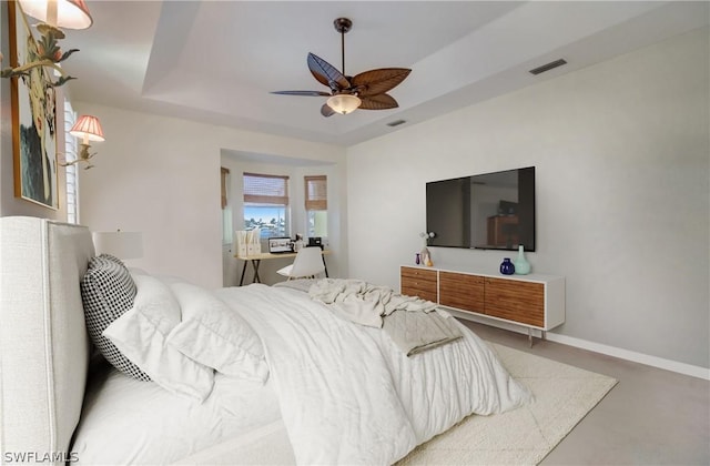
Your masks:
[[[298,464],[392,464],[469,414],[530,399],[460,323],[463,338],[407,357],[382,330],[303,292],[253,284],[216,294],[262,338]]]

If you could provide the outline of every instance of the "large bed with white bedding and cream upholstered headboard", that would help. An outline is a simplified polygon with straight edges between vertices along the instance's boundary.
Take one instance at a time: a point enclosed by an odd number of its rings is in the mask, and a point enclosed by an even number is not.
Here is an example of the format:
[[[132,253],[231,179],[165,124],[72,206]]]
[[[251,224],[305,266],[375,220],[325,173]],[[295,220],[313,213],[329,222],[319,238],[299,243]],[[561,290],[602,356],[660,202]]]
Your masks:
[[[0,225],[3,464],[393,464],[468,415],[530,399],[445,313],[462,336],[407,355],[344,317],[356,300],[337,310],[304,285],[207,291],[130,270],[88,300],[115,260],[95,256],[88,229]],[[135,294],[98,332],[92,310],[121,281]]]

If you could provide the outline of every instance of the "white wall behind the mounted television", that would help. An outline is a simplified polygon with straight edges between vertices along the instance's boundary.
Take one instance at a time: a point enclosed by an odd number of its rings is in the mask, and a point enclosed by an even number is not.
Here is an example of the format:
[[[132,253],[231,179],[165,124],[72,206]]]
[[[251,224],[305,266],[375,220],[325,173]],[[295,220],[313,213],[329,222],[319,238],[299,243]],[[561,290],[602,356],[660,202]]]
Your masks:
[[[556,332],[709,367],[709,55],[704,28],[349,148],[351,275],[398,286],[425,182],[535,165],[527,256],[567,278]],[[494,273],[506,255],[432,251]]]

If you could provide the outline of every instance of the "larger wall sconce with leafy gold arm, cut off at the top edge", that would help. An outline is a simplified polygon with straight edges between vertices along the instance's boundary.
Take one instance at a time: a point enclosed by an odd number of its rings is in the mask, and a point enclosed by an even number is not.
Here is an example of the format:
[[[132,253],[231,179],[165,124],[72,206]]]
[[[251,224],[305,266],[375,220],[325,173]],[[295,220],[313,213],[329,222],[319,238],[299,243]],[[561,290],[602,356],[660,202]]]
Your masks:
[[[54,87],[64,84],[74,79],[64,73],[58,63],[67,60],[69,55],[79,51],[71,49],[62,53],[58,40],[64,39],[64,33],[59,28],[87,29],[93,23],[89,9],[83,0],[18,0],[23,14],[28,14],[39,21],[37,30],[40,34],[38,41],[37,60],[19,64],[17,68],[6,68],[0,71],[2,78],[28,75],[28,71],[37,67],[54,69],[59,79],[52,83]],[[2,55],[0,55],[2,60]]]

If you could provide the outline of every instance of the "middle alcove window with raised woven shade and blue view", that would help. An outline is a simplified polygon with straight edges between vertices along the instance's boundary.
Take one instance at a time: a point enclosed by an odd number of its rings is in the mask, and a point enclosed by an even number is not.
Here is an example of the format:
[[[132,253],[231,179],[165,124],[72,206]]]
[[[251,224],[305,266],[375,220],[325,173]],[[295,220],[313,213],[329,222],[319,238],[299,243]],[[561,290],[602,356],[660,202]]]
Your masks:
[[[244,173],[244,230],[288,236],[288,176]]]

